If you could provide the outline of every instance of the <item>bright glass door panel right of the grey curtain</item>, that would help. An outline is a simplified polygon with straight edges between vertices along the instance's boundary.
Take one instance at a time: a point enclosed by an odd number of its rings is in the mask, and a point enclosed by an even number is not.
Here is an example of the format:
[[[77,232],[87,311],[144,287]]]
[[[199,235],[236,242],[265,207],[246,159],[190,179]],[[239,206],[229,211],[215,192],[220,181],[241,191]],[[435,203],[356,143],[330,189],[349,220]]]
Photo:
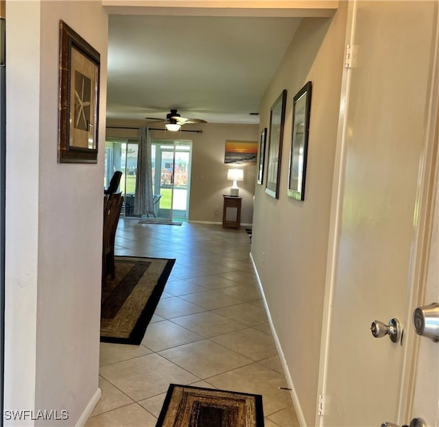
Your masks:
[[[191,141],[153,140],[151,147],[153,193],[160,218],[189,219]]]

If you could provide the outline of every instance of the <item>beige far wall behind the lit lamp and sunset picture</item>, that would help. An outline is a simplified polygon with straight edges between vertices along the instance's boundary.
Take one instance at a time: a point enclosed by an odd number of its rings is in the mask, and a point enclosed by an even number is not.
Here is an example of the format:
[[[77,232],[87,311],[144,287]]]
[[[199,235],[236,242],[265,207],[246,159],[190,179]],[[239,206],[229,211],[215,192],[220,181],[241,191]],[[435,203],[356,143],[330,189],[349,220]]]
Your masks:
[[[108,121],[108,125],[133,126],[145,125],[135,121]],[[154,125],[152,125],[154,127]],[[155,126],[156,127],[156,126]],[[232,182],[226,179],[230,164],[224,163],[224,148],[227,140],[258,141],[258,125],[231,125],[206,123],[185,125],[187,130],[195,132],[176,132],[176,138],[190,140],[193,143],[191,169],[191,195],[189,201],[189,221],[210,223],[222,222],[223,194],[230,194]],[[108,129],[107,136],[137,138],[137,131]],[[171,132],[152,131],[152,138],[169,140]],[[253,195],[256,182],[256,165],[244,169],[244,182],[239,182],[239,195],[242,197],[241,223],[251,224],[253,217]],[[215,214],[215,206],[219,212]]]

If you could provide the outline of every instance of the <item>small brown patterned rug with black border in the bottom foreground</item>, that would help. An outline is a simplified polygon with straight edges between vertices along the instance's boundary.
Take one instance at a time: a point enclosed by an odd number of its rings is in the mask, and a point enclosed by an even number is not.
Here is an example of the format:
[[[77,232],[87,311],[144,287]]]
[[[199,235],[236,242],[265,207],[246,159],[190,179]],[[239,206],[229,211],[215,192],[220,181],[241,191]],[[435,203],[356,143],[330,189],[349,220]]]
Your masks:
[[[262,396],[169,385],[156,427],[263,427]]]

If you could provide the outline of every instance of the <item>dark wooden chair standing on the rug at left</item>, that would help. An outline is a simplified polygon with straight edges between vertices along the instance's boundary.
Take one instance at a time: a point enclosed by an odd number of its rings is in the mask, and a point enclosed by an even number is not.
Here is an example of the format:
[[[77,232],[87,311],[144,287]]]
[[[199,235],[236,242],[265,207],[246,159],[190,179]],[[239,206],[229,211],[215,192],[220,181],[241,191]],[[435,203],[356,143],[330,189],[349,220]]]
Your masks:
[[[115,278],[115,236],[123,197],[121,193],[110,195],[104,199],[104,230],[102,233],[102,285],[106,283],[108,274]]]

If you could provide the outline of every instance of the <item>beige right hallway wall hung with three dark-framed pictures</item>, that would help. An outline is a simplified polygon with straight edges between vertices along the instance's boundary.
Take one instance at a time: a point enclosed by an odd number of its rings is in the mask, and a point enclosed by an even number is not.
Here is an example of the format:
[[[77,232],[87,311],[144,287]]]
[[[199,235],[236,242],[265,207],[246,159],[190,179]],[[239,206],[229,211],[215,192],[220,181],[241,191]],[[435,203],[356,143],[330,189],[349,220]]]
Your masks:
[[[313,425],[318,396],[320,335],[346,5],[333,19],[304,19],[261,101],[261,128],[286,88],[281,187],[278,200],[257,185],[252,257],[285,356],[287,378],[302,425]],[[313,83],[305,201],[287,197],[292,99]],[[265,167],[266,169],[266,167]]]

